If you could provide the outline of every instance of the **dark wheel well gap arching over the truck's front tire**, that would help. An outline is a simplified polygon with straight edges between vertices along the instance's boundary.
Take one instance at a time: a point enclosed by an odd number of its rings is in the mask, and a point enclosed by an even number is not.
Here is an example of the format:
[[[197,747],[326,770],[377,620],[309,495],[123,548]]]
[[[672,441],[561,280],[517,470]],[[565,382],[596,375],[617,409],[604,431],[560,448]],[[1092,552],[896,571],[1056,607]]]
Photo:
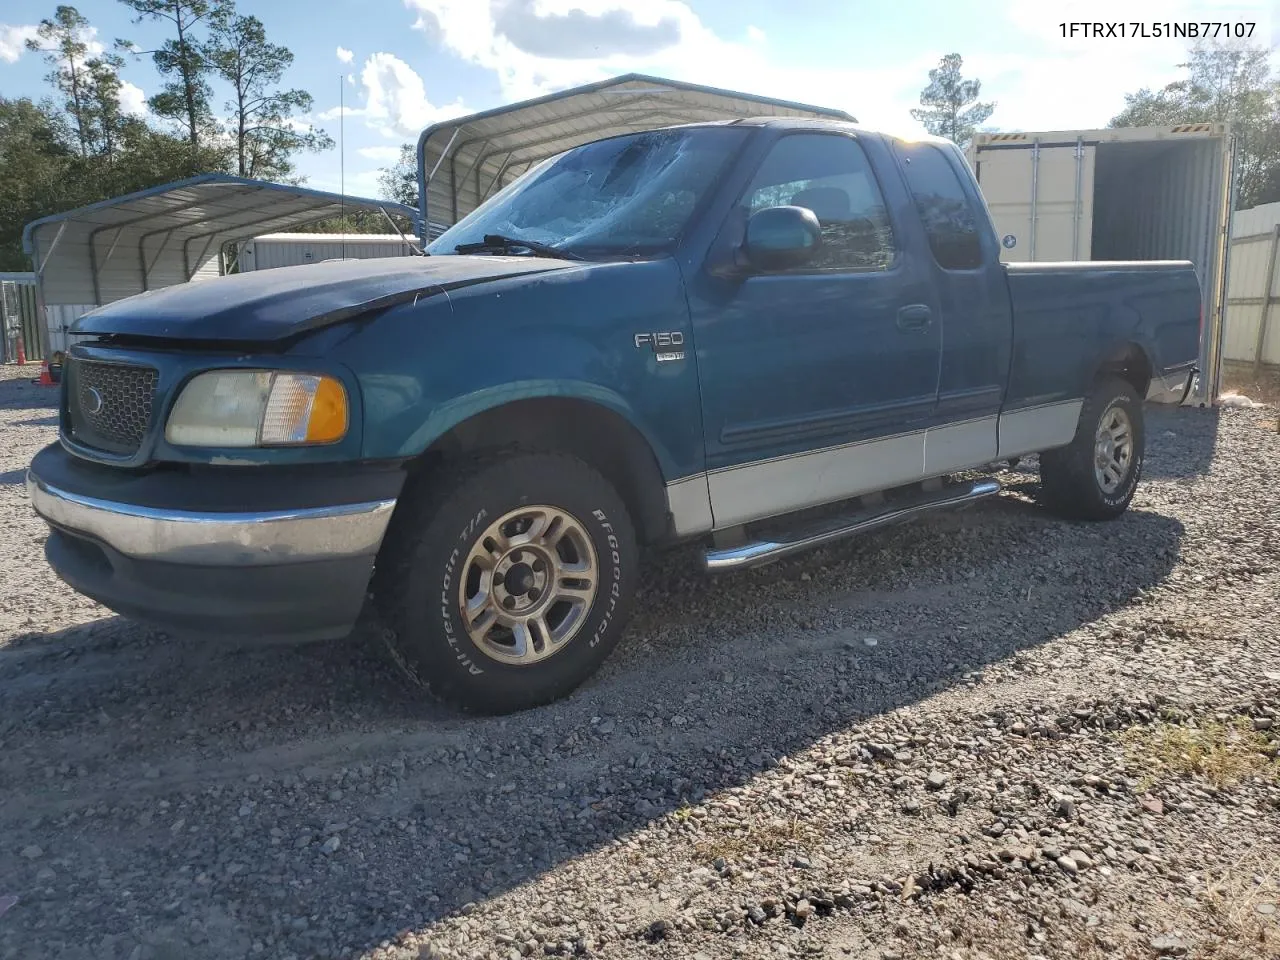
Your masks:
[[[586,461],[622,497],[644,543],[668,535],[666,484],[648,440],[621,415],[588,401],[544,397],[476,413],[436,439],[411,471],[500,447],[558,451]]]

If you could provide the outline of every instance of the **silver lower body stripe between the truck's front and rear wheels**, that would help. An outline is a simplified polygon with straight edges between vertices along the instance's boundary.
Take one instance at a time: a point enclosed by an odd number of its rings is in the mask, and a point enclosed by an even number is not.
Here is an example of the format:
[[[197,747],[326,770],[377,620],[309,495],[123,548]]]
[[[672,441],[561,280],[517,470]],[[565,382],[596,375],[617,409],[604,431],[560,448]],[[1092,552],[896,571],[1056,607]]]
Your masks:
[[[1062,447],[1083,401],[1062,401],[694,474],[667,484],[676,532],[692,536]]]

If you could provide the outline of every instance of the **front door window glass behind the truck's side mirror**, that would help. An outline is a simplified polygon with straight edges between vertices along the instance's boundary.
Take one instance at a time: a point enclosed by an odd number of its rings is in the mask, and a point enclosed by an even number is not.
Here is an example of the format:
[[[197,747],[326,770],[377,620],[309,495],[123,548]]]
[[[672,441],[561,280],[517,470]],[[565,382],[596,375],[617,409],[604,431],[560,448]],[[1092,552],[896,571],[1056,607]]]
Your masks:
[[[856,141],[831,133],[783,137],[760,164],[746,214],[803,206],[822,224],[822,247],[803,270],[883,270],[893,261],[884,197]]]

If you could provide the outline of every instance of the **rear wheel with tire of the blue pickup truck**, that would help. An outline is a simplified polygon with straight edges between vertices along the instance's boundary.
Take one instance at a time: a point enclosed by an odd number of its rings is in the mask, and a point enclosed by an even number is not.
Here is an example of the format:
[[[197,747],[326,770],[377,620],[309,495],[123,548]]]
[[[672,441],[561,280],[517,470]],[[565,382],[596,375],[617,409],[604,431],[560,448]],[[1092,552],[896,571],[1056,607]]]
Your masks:
[[[1103,431],[1112,435],[1110,447]],[[1112,456],[1120,449],[1114,438],[1121,434],[1129,444],[1123,465],[1119,453]],[[1101,378],[1080,408],[1071,443],[1041,454],[1041,502],[1069,520],[1115,520],[1138,489],[1144,451],[1138,392],[1117,376]]]

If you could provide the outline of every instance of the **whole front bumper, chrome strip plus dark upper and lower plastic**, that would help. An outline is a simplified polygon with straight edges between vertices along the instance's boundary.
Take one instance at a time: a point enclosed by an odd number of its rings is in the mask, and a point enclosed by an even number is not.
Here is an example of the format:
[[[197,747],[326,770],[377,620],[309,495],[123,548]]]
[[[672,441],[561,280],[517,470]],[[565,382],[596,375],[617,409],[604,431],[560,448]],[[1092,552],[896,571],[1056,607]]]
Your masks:
[[[27,474],[45,556],[79,593],[174,631],[300,640],[355,625],[402,483],[349,466],[131,476],[56,444]]]

